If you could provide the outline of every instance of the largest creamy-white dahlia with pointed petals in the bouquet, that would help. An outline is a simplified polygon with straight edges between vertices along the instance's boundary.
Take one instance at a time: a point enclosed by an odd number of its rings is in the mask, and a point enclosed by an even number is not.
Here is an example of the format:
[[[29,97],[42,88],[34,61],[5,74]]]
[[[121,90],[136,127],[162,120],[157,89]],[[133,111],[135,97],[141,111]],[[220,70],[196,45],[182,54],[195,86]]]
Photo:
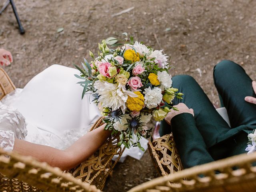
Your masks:
[[[99,94],[98,102],[102,103],[102,107],[109,107],[112,110],[121,108],[122,112],[126,109],[126,100],[128,95],[131,97],[138,97],[131,91],[127,91],[122,84],[101,82],[100,80],[94,83],[94,87],[97,89],[96,93]]]

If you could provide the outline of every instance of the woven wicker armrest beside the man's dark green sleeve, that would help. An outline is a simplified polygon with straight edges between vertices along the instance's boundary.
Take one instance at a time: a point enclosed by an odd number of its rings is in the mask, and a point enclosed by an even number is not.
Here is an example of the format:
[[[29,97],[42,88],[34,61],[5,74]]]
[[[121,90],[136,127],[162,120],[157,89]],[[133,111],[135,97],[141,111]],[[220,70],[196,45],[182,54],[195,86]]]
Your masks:
[[[183,169],[172,134],[148,142],[148,150],[160,175],[166,176]]]

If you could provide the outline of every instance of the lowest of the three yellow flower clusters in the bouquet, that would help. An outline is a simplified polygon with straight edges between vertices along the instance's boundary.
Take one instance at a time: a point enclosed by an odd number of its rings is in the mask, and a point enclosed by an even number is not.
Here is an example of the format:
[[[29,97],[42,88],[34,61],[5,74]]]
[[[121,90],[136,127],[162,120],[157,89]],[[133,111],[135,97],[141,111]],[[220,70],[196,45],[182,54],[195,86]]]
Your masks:
[[[144,96],[139,91],[136,91],[134,93],[138,95],[138,97],[128,96],[128,99],[126,101],[127,107],[131,111],[140,111],[144,106]]]

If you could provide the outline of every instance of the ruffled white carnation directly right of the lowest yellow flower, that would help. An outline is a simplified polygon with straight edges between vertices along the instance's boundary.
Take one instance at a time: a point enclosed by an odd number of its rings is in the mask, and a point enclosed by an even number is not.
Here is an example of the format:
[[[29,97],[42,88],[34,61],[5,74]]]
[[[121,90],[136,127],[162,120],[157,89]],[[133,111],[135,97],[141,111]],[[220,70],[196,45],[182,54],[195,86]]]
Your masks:
[[[162,90],[158,87],[155,87],[153,90],[150,87],[146,88],[143,93],[145,94],[144,103],[149,109],[157,107],[162,101]]]

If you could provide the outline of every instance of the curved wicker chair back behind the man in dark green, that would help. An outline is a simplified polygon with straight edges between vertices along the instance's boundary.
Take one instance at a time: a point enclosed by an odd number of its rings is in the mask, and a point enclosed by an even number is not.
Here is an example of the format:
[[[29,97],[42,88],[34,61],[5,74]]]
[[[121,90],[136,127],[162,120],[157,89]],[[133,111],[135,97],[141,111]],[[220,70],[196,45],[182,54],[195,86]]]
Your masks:
[[[256,153],[241,154],[153,179],[128,192],[255,192],[255,163]]]

